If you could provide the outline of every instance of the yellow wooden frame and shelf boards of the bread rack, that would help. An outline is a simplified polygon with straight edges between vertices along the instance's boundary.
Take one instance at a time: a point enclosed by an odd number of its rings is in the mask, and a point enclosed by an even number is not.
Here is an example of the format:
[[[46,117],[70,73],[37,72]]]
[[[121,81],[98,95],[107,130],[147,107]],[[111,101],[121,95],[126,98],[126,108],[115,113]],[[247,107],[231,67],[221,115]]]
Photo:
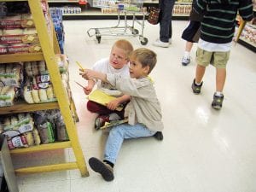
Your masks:
[[[20,2],[21,0],[0,0],[0,2]],[[24,2],[24,0],[23,0]],[[53,84],[57,102],[26,104],[25,102],[17,102],[12,107],[0,108],[0,114],[31,112],[44,109],[60,108],[64,123],[67,127],[69,141],[59,143],[41,144],[30,148],[18,148],[10,151],[11,154],[27,154],[45,150],[54,150],[58,148],[73,148],[76,161],[47,166],[32,166],[16,169],[15,173],[37,173],[37,172],[55,172],[70,169],[79,169],[82,177],[89,176],[87,171],[84,155],[79,145],[76,126],[73,119],[74,106],[73,102],[67,96],[59,73],[55,54],[60,53],[56,42],[55,32],[48,31],[44,13],[40,0],[27,0],[32,12],[32,18],[38,32],[38,38],[42,48],[42,53],[38,54],[11,54],[0,55],[0,63],[11,63],[16,61],[42,61],[44,60],[49,71],[51,83]],[[52,25],[51,25],[52,27]]]

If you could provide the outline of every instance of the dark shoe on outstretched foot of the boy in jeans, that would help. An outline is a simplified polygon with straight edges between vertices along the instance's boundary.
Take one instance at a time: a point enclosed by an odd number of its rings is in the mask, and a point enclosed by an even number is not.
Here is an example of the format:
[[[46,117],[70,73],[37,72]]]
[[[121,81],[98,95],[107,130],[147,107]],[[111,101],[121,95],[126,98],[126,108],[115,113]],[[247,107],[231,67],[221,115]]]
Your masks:
[[[113,167],[95,157],[89,159],[90,168],[102,175],[105,181],[113,181]]]

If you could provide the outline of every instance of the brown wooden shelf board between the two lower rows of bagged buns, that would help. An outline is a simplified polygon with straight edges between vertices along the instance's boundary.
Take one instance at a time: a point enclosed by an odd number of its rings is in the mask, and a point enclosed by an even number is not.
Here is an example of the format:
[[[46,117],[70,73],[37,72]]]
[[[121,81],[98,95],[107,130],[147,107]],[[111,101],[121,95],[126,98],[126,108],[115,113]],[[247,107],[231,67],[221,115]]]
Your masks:
[[[27,104],[25,101],[19,101],[15,102],[13,106],[0,108],[0,114],[25,113],[55,108],[59,108],[58,102]]]

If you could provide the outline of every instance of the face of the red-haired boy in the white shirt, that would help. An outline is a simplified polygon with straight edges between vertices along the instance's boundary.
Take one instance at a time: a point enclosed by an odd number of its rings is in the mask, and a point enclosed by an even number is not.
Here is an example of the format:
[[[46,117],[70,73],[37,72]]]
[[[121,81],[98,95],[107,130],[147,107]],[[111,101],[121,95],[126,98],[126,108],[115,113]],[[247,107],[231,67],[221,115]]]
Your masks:
[[[113,46],[109,56],[109,63],[115,69],[120,69],[128,63],[124,49]]]

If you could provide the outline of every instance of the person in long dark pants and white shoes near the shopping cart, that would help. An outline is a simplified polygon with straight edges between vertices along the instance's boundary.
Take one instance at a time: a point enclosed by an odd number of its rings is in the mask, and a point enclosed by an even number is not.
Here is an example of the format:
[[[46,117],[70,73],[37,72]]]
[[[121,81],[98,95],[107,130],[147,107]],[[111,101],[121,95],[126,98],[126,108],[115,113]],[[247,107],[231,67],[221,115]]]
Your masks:
[[[153,43],[157,47],[169,47],[172,44],[172,9],[175,0],[160,0],[160,38]]]

